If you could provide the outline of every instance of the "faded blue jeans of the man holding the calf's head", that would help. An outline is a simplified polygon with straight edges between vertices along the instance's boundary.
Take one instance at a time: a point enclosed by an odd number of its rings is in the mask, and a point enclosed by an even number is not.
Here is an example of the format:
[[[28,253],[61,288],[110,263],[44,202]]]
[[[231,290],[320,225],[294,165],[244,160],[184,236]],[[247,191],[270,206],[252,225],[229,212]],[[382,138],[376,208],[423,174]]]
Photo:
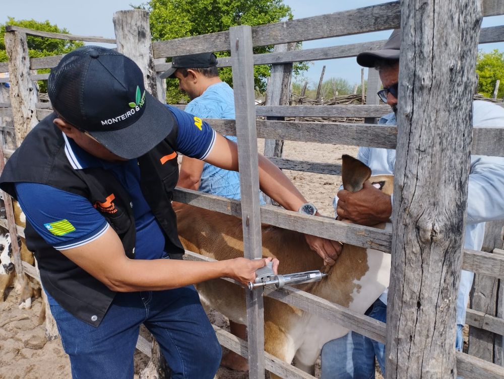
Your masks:
[[[386,322],[387,306],[376,299],[365,315]],[[385,345],[350,332],[322,348],[321,379],[374,379],[375,357],[385,374]]]

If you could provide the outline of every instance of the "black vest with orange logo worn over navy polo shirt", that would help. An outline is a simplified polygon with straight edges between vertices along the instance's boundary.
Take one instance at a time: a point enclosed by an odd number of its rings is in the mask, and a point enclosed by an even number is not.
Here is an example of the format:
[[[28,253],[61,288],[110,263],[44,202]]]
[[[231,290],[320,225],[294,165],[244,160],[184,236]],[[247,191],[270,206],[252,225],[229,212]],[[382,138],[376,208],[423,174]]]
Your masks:
[[[54,113],[47,116],[28,133],[7,162],[0,177],[0,187],[14,198],[14,183],[18,182],[47,184],[85,197],[117,233],[128,258],[134,259],[135,218],[128,192],[110,171],[72,167],[65,154],[62,132],[53,124],[55,117]],[[184,253],[171,207],[172,191],[178,180],[178,164],[173,159],[176,157],[177,132],[178,125],[174,120],[168,136],[138,158],[140,187],[161,226],[165,237],[164,251],[171,259],[182,259]],[[114,195],[112,202],[111,194]],[[98,326],[116,292],[48,245],[28,220],[25,237],[28,249],[35,253],[38,261],[44,289],[75,317]]]

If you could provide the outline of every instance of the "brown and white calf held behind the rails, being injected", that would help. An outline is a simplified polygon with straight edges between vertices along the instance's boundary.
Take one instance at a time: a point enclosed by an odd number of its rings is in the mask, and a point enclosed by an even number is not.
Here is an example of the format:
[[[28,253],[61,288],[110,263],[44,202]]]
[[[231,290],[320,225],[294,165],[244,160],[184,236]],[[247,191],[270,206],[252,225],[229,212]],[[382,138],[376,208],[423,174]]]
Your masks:
[[[345,189],[358,191],[369,179],[385,193],[392,193],[392,176],[369,176],[367,166],[344,156]],[[243,256],[240,218],[186,204],[176,203],[174,208],[186,250],[217,260]],[[383,229],[385,224],[378,227]],[[263,257],[278,258],[280,274],[317,269],[329,273],[320,282],[298,288],[361,314],[389,285],[390,254],[344,245],[336,264],[328,268],[310,251],[302,233],[263,224],[262,239]],[[215,279],[198,284],[197,289],[205,308],[218,310],[230,321],[246,323],[244,288]],[[310,373],[314,372],[322,346],[348,333],[344,327],[269,297],[264,298],[264,319],[265,350],[289,363],[296,357],[296,366]]]

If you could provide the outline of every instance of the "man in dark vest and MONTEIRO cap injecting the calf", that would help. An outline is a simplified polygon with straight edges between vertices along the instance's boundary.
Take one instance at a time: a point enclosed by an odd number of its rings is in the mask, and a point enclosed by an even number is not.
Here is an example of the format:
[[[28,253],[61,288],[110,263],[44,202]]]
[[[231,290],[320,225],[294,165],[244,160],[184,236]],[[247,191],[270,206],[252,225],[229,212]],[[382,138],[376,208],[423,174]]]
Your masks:
[[[26,243],[73,376],[132,378],[144,324],[172,378],[213,378],[221,349],[191,284],[222,276],[246,283],[267,260],[180,260],[171,198],[176,151],[237,169],[236,145],[161,104],[145,91],[140,68],[110,49],[67,54],[51,70],[48,92],[54,113],[26,136],[0,187],[26,214]],[[285,208],[299,209],[302,195],[259,161],[262,187]],[[337,243],[307,241],[334,263]]]

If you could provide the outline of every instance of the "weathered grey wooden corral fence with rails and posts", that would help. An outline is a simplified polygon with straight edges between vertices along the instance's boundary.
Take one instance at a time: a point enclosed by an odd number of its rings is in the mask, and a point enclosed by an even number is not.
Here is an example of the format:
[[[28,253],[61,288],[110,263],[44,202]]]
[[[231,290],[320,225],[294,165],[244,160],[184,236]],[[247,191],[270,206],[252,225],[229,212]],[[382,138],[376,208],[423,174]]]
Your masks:
[[[261,256],[261,222],[392,252],[393,276],[389,291],[387,327],[384,323],[295,288],[273,290],[266,287],[264,295],[317,313],[351,330],[387,343],[387,377],[452,378],[458,374],[467,378],[504,378],[504,368],[468,354],[455,353],[453,328],[457,286],[443,287],[443,283],[458,282],[461,267],[493,278],[491,280],[496,283],[495,286],[500,283],[496,279],[504,278],[504,256],[461,249],[469,151],[471,154],[504,157],[504,129],[472,130],[472,125],[467,122],[470,119],[472,99],[470,74],[474,71],[478,36],[479,43],[504,41],[504,26],[485,28],[480,32],[478,20],[482,15],[504,14],[504,3],[500,0],[483,0],[482,12],[478,0],[431,3],[433,4],[426,2],[417,5],[413,1],[403,0],[401,3],[386,3],[253,28],[237,26],[225,32],[152,43],[148,31],[148,15],[140,10],[120,11],[114,15],[117,40],[7,27],[6,46],[10,61],[9,65],[0,64],[0,72],[10,72],[8,81],[11,84],[11,102],[0,104],[0,116],[13,117],[16,141],[19,143],[38,119],[51,112],[49,104],[37,102],[33,91],[34,81],[45,80],[48,75],[31,70],[54,67],[61,56],[30,59],[26,56],[27,34],[116,43],[119,51],[139,63],[144,70],[146,87],[157,94],[160,100],[164,100],[164,83],[159,80],[157,73],[169,67],[169,63],[165,63],[166,58],[205,51],[230,51],[230,57],[219,58],[219,66],[231,66],[233,70],[236,120],[210,122],[220,133],[238,136],[242,201],[240,203],[216,198],[190,190],[176,191],[174,200],[242,217],[245,256],[248,258]],[[435,23],[432,21],[434,14]],[[454,24],[457,20],[464,21]],[[253,47],[398,27],[402,29],[402,44],[408,47],[401,51],[399,128],[372,124],[377,117],[390,112],[387,105],[377,103],[375,92],[380,84],[373,70],[370,70],[368,78],[366,105],[284,106],[280,105],[283,98],[280,95],[270,95],[272,100],[267,106],[254,105],[255,64],[272,64],[280,69],[297,61],[355,56],[361,51],[379,48],[385,41],[307,50],[279,48],[275,52],[258,55],[253,54]],[[138,33],[139,29],[146,33]],[[140,35],[147,36],[147,39],[139,40]],[[443,59],[439,59],[440,57]],[[3,80],[0,79],[1,81]],[[453,107],[454,103],[450,102],[453,87],[457,88],[457,104],[462,106],[449,119],[443,109]],[[280,86],[278,88],[280,94],[282,91]],[[274,90],[275,88],[270,89]],[[427,102],[427,97],[434,97],[436,101]],[[433,114],[438,119],[419,117]],[[258,121],[257,116],[266,119]],[[273,119],[286,116],[364,117],[367,123]],[[443,132],[439,132],[440,130]],[[257,161],[254,155],[257,151],[257,138],[397,148],[394,231],[390,233],[323,217],[308,220],[303,217],[301,221],[302,216],[294,212],[276,207],[261,207],[257,196],[252,195],[258,190]],[[6,155],[9,155],[7,150]],[[341,167],[337,164],[306,164],[280,157],[272,160],[279,167],[290,170],[334,175],[341,172]],[[428,192],[428,188],[437,190],[442,186],[448,194],[447,198],[453,201],[446,204],[426,202],[422,214],[427,214],[428,219],[420,217],[418,207],[415,206],[417,196],[422,194],[424,199],[434,196],[434,192]],[[442,215],[446,214],[450,215],[450,220],[443,218]],[[450,225],[457,225],[458,228],[450,229],[447,222],[452,220],[455,223]],[[11,230],[15,228],[13,221],[8,226]],[[498,244],[501,242],[498,226],[495,226],[494,231],[492,238]],[[18,229],[18,233],[22,234],[22,230]],[[205,259],[191,253],[187,255],[192,259]],[[22,272],[19,265],[16,269]],[[33,268],[24,268],[29,275],[37,276]],[[500,288],[497,297],[502,298]],[[436,307],[436,301],[432,300],[436,298],[443,301],[443,304]],[[500,300],[498,304],[501,304]],[[265,368],[286,378],[312,377],[264,353],[260,291],[247,296],[247,316],[248,344],[216,329],[223,346],[248,357],[250,378],[263,378]],[[467,323],[502,336],[504,320],[501,316],[500,310],[496,313],[473,310],[468,312]],[[412,325],[415,320],[417,323]],[[150,345],[145,340],[140,339],[138,347],[150,353]]]

